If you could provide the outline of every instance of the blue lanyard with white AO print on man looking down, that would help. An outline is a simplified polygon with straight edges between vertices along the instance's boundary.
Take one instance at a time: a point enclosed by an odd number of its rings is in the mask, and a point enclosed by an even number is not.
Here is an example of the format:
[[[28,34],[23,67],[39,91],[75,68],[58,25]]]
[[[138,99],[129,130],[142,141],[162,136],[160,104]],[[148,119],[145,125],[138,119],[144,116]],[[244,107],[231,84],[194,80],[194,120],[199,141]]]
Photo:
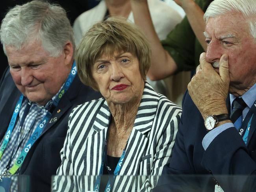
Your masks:
[[[62,98],[63,94],[69,89],[72,81],[74,80],[74,77],[76,76],[76,63],[74,61],[73,65],[72,65],[72,69],[69,73],[69,76],[67,78],[67,80],[65,81],[63,87],[61,88],[58,96],[54,99],[53,101],[53,105],[56,107],[59,103],[59,100]],[[4,150],[9,142],[9,139],[11,137],[11,133],[13,131],[13,128],[15,126],[15,122],[16,122],[16,119],[17,119],[17,115],[19,114],[20,112],[20,107],[21,107],[21,104],[22,104],[22,100],[23,100],[23,95],[20,96],[17,104],[16,104],[16,107],[15,107],[15,110],[13,112],[13,116],[11,118],[11,122],[9,124],[9,127],[7,129],[7,132],[6,132],[6,135],[4,137],[4,141],[3,141],[3,144],[0,148],[0,159],[2,158],[2,155],[4,153]],[[25,114],[24,114],[25,115]],[[23,116],[24,116],[23,115]],[[11,169],[9,170],[9,173],[11,174],[15,174],[17,172],[17,170],[19,169],[19,167],[22,165],[28,151],[30,150],[30,148],[32,147],[32,145],[34,144],[34,142],[37,140],[37,138],[39,138],[39,136],[41,135],[41,133],[43,132],[43,129],[45,128],[46,126],[46,123],[48,122],[48,120],[50,119],[51,117],[51,113],[48,111],[45,115],[45,117],[43,118],[43,120],[39,123],[39,125],[36,127],[35,131],[32,133],[31,137],[29,138],[28,142],[25,144],[25,147],[23,148],[23,150],[21,151],[19,157],[17,158],[17,160],[15,161],[14,165],[11,167]],[[24,117],[25,118],[25,117]],[[22,120],[24,119],[22,118]],[[24,119],[25,120],[25,119]],[[23,122],[24,123],[24,122]],[[22,123],[22,124],[23,124]]]

